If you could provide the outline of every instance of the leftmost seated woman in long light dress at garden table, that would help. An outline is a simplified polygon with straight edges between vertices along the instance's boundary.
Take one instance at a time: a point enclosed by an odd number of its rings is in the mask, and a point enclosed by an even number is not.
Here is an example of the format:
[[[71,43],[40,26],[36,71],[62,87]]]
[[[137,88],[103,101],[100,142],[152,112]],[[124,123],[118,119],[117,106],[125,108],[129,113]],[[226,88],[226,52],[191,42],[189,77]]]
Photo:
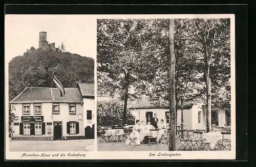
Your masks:
[[[140,145],[140,121],[136,120],[136,124],[133,126],[133,131],[130,133],[129,137],[126,140],[126,145]]]

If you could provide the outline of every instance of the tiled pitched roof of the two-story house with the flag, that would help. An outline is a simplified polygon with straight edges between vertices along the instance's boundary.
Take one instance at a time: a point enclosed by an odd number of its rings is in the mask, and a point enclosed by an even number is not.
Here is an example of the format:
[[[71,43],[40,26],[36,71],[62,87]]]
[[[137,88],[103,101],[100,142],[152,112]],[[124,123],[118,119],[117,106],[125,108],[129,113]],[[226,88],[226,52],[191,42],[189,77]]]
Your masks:
[[[26,87],[10,103],[25,102],[82,102],[77,88],[65,88],[65,95],[60,97],[57,88]]]

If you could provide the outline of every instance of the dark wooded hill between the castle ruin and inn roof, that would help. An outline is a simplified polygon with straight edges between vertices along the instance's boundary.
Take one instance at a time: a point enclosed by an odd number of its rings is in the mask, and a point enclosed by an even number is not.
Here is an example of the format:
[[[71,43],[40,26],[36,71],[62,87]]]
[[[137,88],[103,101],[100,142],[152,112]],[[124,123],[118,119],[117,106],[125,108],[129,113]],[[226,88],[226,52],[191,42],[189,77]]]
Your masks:
[[[94,60],[75,53],[31,47],[9,62],[9,100],[25,87],[54,87],[53,72],[65,88],[75,87],[78,81],[93,83]]]

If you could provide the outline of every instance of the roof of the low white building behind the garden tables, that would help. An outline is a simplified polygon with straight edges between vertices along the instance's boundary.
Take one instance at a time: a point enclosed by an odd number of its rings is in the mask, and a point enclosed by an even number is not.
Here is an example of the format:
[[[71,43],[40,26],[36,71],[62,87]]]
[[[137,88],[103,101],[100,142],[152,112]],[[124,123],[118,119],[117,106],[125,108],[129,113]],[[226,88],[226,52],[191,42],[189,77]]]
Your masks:
[[[194,101],[184,101],[183,107],[190,108],[195,104]],[[132,102],[129,108],[168,108],[168,101],[166,100],[153,100],[151,101],[147,97],[142,97],[141,99]],[[178,104],[178,108],[181,108],[181,102]]]

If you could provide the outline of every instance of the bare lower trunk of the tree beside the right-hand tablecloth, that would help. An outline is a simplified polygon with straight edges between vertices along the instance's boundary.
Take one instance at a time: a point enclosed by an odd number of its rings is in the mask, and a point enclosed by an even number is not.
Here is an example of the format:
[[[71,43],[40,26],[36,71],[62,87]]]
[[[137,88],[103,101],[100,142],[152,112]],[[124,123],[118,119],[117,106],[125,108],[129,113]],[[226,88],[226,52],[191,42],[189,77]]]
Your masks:
[[[211,92],[210,92],[210,77],[209,69],[210,63],[209,60],[205,62],[205,84],[206,84],[206,133],[211,131]]]

